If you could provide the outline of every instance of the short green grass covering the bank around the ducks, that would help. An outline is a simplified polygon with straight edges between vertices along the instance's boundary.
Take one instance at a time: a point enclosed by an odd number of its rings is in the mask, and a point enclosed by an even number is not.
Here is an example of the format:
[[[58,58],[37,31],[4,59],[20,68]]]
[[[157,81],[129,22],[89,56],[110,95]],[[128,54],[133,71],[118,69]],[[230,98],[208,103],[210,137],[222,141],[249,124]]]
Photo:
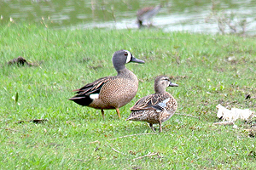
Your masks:
[[[255,111],[255,47],[255,38],[232,35],[1,26],[0,167],[253,169],[256,150],[245,130],[249,125],[237,122],[236,129],[212,123],[218,122],[218,104]],[[111,59],[119,49],[146,63],[126,65],[140,80],[137,96],[120,108],[121,120],[109,110],[103,121],[100,111],[67,99],[87,82],[116,75]],[[7,65],[18,56],[38,66]],[[175,115],[160,134],[152,134],[145,122],[125,122],[137,99],[154,93],[159,75],[179,85],[167,89],[177,99],[177,112],[200,120]],[[247,94],[252,98],[245,99]],[[32,119],[49,121],[17,123]],[[127,136],[139,133],[149,134]]]

